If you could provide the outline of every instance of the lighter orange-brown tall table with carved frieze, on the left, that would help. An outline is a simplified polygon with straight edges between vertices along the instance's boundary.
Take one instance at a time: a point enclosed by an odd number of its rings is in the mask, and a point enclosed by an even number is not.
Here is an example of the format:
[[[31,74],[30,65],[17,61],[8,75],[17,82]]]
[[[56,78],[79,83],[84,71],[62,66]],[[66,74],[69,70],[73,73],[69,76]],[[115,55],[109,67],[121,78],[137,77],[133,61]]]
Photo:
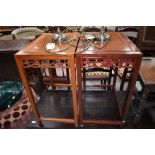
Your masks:
[[[69,33],[68,36],[73,34]],[[42,121],[53,121],[53,122],[64,122],[64,123],[74,123],[75,126],[78,125],[78,115],[77,115],[77,99],[76,99],[76,74],[75,74],[75,60],[74,60],[74,52],[76,46],[70,46],[66,51],[67,55],[60,54],[52,54],[48,53],[45,50],[46,44],[52,41],[53,34],[45,33],[38,37],[36,40],[32,41],[26,48],[19,51],[15,54],[16,63],[18,65],[18,69],[25,86],[25,89],[28,93],[30,102],[32,104],[32,108],[36,117],[36,120],[40,126],[43,126]],[[75,44],[77,40],[75,40]],[[60,44],[63,47],[63,43]],[[60,48],[61,48],[60,47]],[[63,61],[57,61],[63,60]],[[66,62],[65,64],[62,62]],[[65,119],[65,118],[45,118],[41,117],[39,111],[37,109],[37,105],[34,101],[34,97],[32,95],[32,91],[30,89],[29,81],[26,75],[26,68],[55,68],[64,67],[69,68],[70,70],[70,84],[63,83],[55,83],[54,86],[70,86],[72,87],[72,101],[73,101],[73,119]],[[52,77],[51,77],[52,82]]]

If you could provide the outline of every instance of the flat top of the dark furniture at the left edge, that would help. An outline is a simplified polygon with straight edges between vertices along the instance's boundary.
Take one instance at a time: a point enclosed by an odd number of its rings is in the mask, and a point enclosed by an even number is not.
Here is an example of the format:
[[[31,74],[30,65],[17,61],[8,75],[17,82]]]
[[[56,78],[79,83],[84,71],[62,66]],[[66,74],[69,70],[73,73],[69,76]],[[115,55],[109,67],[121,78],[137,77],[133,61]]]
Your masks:
[[[28,43],[29,40],[0,40],[0,52],[19,51]]]

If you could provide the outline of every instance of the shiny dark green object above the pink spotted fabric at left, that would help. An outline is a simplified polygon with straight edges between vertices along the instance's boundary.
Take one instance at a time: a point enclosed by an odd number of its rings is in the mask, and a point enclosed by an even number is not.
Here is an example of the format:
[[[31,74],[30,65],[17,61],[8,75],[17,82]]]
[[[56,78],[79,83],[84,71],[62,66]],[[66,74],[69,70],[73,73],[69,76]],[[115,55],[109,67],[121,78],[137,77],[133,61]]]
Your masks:
[[[21,82],[6,81],[0,86],[0,111],[10,108],[21,97],[23,91]]]

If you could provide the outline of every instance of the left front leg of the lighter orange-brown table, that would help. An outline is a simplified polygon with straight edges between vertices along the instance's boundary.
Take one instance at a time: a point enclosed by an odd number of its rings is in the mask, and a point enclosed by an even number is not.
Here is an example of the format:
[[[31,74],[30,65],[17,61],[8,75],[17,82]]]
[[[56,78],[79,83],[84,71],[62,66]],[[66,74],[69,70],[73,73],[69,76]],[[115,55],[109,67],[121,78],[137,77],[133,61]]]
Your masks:
[[[29,81],[28,81],[25,69],[23,67],[23,62],[22,62],[21,59],[18,59],[18,58],[15,58],[15,59],[16,59],[16,63],[17,63],[17,66],[18,66],[18,69],[19,69],[23,84],[24,84],[26,92],[27,92],[27,95],[29,97],[29,100],[30,100],[30,103],[31,103],[31,106],[32,106],[32,110],[33,110],[33,112],[35,114],[36,120],[37,120],[39,126],[43,127],[42,121],[40,119],[40,114],[39,114],[39,111],[37,109],[37,105],[35,103],[35,100],[34,100],[34,97],[33,97],[33,94],[32,94],[32,90],[31,90],[31,88],[29,86]]]

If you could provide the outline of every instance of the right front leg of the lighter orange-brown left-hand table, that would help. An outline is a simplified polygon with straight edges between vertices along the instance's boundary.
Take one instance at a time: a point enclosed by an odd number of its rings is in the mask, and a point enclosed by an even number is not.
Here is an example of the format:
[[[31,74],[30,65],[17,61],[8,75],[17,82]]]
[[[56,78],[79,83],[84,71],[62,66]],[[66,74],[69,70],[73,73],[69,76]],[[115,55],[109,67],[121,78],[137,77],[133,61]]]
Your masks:
[[[75,127],[78,127],[78,109],[77,109],[77,94],[76,94],[76,72],[75,72],[75,61],[74,56],[69,60],[70,72],[71,72],[71,84],[72,84],[72,100],[73,100],[73,111],[74,111],[74,123]]]

